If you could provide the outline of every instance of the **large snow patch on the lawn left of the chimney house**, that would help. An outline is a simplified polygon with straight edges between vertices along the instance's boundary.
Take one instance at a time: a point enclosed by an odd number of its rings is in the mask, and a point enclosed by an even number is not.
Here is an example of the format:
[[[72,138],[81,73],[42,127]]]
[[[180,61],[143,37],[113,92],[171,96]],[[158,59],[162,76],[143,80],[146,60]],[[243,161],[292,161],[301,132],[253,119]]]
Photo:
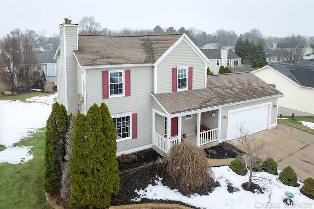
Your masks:
[[[55,94],[36,96],[27,102],[0,100],[0,163],[18,164],[32,159],[31,147],[13,146],[38,128],[46,126]]]

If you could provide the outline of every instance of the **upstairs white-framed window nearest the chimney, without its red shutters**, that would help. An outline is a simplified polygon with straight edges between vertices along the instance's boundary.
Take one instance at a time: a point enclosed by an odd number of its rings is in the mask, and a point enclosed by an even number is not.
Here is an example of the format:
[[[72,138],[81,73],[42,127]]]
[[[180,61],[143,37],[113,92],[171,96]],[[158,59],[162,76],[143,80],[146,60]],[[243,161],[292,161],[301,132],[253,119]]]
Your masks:
[[[110,96],[123,95],[123,71],[110,71]]]

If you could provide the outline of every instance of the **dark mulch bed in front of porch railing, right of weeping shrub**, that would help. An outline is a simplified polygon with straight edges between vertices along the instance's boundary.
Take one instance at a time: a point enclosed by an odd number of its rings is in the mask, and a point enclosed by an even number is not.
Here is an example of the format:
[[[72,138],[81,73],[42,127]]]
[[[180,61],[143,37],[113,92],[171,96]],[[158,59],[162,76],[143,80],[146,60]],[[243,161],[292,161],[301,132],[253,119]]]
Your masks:
[[[243,153],[242,150],[239,150],[234,145],[223,142],[220,143],[217,146],[209,147],[207,149],[204,149],[206,152],[207,158],[235,158],[239,155],[239,153]]]

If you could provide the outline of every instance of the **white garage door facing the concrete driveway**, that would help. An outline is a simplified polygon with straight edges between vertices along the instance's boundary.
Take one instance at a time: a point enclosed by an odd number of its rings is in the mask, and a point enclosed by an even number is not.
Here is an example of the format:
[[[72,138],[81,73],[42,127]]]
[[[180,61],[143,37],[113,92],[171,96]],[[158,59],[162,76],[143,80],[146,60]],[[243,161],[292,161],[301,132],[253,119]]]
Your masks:
[[[228,140],[239,137],[238,129],[241,125],[244,126],[245,130],[249,130],[249,134],[266,130],[268,127],[268,108],[269,105],[263,105],[230,111],[227,127]]]

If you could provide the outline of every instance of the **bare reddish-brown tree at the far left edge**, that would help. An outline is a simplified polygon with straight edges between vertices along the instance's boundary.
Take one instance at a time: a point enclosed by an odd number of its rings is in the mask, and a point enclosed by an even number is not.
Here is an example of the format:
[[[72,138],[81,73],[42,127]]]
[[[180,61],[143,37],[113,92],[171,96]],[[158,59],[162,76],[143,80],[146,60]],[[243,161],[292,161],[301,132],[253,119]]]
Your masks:
[[[9,89],[17,88],[18,64],[21,63],[21,48],[18,39],[7,36],[1,45],[0,78]]]

